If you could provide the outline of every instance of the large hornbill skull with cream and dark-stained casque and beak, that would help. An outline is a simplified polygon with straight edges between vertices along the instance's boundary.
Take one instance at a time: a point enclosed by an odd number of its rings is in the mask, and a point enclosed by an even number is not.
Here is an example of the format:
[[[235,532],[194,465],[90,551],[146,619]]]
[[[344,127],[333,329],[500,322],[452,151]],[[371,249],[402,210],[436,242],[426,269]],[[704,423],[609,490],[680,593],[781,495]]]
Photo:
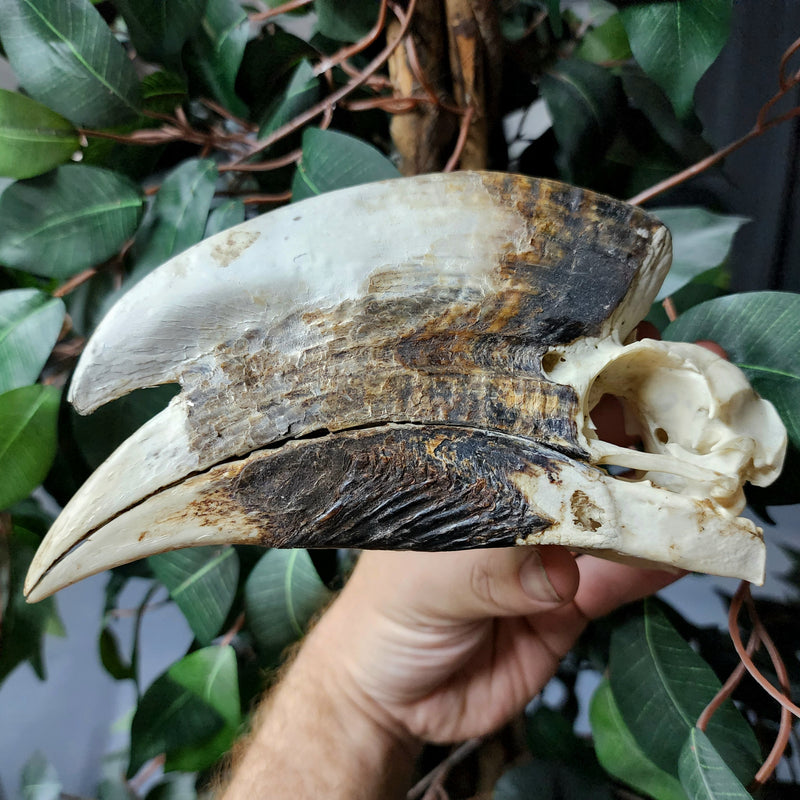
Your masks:
[[[761,531],[736,515],[780,470],[774,408],[696,345],[624,344],[669,264],[640,209],[492,173],[345,189],[207,239],[83,353],[81,413],[182,391],[65,507],[29,599],[219,543],[561,544],[761,582]],[[603,394],[644,451],[598,438]]]

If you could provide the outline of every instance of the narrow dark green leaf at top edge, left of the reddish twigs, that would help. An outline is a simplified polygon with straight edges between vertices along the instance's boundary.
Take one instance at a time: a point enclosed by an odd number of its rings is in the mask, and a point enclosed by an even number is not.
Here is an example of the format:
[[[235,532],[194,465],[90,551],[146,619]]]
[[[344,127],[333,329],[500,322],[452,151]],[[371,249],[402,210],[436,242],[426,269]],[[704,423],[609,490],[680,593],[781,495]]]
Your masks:
[[[202,26],[190,41],[186,54],[190,75],[229,111],[247,115],[236,96],[236,75],[242,63],[250,26],[238,0],[208,0]]]

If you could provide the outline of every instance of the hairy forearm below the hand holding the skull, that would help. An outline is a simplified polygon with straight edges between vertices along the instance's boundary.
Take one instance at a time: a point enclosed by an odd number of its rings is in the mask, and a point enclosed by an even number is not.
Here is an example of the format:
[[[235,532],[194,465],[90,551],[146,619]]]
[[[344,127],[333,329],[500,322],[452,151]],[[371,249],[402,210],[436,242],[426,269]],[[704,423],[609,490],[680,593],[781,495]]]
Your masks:
[[[264,701],[224,800],[405,796],[418,746],[347,686],[335,627],[329,612]]]

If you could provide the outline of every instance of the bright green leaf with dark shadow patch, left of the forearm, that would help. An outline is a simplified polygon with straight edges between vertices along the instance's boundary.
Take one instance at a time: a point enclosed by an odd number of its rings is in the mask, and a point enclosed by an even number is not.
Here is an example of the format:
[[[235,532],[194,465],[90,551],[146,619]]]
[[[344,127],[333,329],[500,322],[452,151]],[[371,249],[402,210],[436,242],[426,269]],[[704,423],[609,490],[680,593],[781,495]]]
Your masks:
[[[241,723],[233,648],[185,656],[145,692],[131,725],[128,777],[166,755],[166,770],[206,769],[227,752]]]

